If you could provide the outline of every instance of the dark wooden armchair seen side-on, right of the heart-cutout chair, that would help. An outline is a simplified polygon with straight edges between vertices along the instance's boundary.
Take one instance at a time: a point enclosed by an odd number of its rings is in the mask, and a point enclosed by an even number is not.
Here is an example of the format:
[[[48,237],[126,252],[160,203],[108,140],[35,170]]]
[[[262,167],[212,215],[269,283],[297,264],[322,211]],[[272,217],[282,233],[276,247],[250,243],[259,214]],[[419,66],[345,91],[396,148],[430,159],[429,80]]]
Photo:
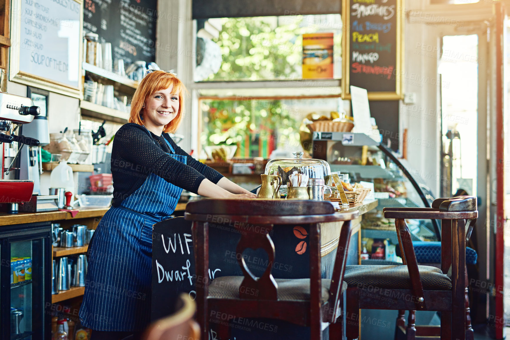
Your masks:
[[[402,266],[347,266],[347,339],[359,337],[359,309],[412,310],[406,338],[416,336],[414,310],[441,311],[441,340],[466,338],[466,239],[478,216],[476,197],[442,198],[432,208],[385,208],[395,219]],[[441,270],[418,266],[404,219],[441,220]],[[405,323],[402,313],[397,327]],[[470,326],[469,326],[470,328]],[[469,333],[469,330],[468,330]],[[425,334],[427,335],[427,334]]]

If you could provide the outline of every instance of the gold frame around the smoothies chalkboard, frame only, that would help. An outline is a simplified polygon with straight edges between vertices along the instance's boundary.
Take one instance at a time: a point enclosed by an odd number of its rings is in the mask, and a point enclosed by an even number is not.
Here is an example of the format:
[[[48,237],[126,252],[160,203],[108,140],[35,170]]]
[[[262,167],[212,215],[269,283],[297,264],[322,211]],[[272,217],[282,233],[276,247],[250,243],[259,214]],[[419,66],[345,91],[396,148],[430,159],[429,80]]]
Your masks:
[[[368,92],[369,100],[400,100],[403,99],[401,72],[404,69],[404,9],[402,0],[394,0],[396,5],[396,46],[395,46],[395,69],[392,76],[395,78],[394,92]],[[342,2],[342,21],[343,21],[343,37],[342,37],[342,99],[350,99],[350,39],[351,39],[351,0]]]

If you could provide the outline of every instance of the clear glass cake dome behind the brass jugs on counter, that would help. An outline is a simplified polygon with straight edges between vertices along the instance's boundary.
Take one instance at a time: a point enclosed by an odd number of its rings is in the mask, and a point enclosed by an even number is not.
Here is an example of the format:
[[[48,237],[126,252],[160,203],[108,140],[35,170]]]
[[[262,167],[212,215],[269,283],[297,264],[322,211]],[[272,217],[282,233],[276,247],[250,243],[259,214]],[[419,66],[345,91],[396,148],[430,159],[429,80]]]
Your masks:
[[[289,175],[294,171],[305,174],[309,178],[322,178],[327,185],[330,185],[331,170],[329,164],[324,160],[303,159],[303,152],[293,152],[294,158],[274,159],[267,162],[266,175],[280,175],[282,177],[282,186],[280,193],[287,193],[287,183]]]

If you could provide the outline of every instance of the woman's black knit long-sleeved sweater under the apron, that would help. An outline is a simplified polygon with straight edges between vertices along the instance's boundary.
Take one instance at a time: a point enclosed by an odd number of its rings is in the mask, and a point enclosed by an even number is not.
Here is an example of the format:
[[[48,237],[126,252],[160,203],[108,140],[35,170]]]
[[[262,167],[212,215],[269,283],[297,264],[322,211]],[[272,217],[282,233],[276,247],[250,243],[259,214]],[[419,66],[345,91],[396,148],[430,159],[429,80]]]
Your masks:
[[[166,139],[176,154],[184,155],[187,164],[173,159]],[[223,175],[195,160],[163,133],[161,136],[149,132],[145,126],[127,123],[120,127],[113,139],[112,162],[113,206],[120,203],[140,188],[150,173],[167,182],[198,192],[200,182],[207,178],[216,184]]]

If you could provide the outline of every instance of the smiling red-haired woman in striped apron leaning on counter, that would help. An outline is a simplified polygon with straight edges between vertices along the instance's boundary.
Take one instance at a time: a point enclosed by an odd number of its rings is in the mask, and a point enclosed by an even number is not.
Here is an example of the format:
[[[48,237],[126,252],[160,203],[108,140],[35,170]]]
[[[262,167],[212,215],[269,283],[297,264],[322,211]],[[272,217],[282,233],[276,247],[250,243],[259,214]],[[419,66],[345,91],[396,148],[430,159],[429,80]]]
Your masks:
[[[148,326],[152,225],[169,218],[183,189],[211,198],[256,197],[170,138],[184,116],[185,91],[173,73],[148,73],[133,96],[129,123],[115,134],[114,197],[89,244],[80,309],[92,340],[138,338]]]

